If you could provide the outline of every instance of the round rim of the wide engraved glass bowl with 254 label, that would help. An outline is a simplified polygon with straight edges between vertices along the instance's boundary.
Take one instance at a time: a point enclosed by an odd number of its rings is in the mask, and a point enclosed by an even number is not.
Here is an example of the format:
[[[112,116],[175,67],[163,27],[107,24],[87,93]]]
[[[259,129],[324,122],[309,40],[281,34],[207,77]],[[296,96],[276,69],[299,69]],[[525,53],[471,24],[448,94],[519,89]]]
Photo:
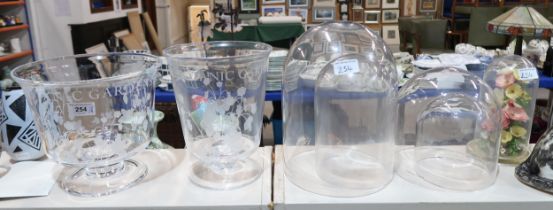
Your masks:
[[[58,82],[34,81],[31,79],[25,79],[16,75],[17,72],[25,71],[27,68],[30,68],[32,66],[38,66],[52,61],[70,60],[70,59],[96,57],[96,56],[109,57],[109,56],[124,56],[124,55],[152,58],[155,61],[154,67],[146,68],[144,69],[144,71],[136,71],[136,72],[131,72],[131,73],[117,75],[117,76],[110,76],[106,78],[96,78],[96,79],[79,80],[79,81],[58,81]],[[160,61],[160,58],[155,55],[144,54],[144,53],[108,52],[108,53],[94,53],[94,54],[77,54],[77,55],[60,56],[60,57],[37,60],[37,61],[29,62],[15,67],[14,69],[11,70],[10,76],[15,82],[19,84],[29,85],[29,86],[33,86],[33,85],[36,86],[39,84],[42,86],[86,86],[90,84],[96,84],[97,82],[111,82],[111,81],[130,79],[138,75],[147,73],[148,69],[155,69],[157,71],[159,67],[161,67],[161,61]]]

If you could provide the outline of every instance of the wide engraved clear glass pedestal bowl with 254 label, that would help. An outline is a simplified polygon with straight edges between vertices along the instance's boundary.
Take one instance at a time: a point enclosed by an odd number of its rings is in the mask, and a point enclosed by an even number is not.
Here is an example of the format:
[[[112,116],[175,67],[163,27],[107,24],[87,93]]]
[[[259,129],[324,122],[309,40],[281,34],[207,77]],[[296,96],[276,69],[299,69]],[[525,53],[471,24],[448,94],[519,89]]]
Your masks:
[[[47,154],[79,168],[60,185],[73,195],[109,195],[140,182],[144,164],[129,158],[153,133],[155,56],[76,55],[17,67]]]

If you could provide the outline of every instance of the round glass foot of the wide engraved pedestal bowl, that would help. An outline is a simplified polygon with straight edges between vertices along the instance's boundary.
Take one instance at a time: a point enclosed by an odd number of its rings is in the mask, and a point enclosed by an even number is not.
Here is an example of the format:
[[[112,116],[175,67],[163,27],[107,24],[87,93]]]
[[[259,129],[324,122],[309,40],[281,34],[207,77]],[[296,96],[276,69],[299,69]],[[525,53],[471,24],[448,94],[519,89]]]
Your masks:
[[[128,189],[148,174],[146,165],[125,160],[101,167],[81,168],[61,181],[61,188],[81,197],[100,197]]]

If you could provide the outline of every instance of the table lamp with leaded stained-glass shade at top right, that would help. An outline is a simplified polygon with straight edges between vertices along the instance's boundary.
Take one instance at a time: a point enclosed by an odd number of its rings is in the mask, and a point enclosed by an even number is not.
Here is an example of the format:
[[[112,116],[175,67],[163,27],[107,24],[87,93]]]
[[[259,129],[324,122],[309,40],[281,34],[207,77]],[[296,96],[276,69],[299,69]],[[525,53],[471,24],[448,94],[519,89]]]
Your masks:
[[[522,55],[522,37],[549,37],[553,24],[532,7],[518,6],[488,22],[488,31],[516,36],[515,54]]]

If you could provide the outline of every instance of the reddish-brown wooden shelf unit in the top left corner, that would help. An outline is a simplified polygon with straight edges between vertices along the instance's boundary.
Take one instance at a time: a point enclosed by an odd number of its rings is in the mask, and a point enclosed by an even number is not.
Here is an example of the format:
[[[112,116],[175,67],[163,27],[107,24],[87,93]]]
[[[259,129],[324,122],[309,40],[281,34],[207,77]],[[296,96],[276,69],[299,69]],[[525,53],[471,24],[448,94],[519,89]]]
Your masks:
[[[33,49],[29,35],[29,21],[27,20],[27,8],[25,7],[25,1],[19,0],[0,2],[0,15],[15,16],[20,18],[23,22],[23,24],[20,25],[0,27],[0,42],[10,43],[10,40],[18,39],[19,47],[16,48],[21,49],[20,51],[15,52],[13,51],[13,48],[8,49],[9,53],[0,56],[0,75],[3,75],[5,72],[1,71],[4,69],[11,70],[21,64],[31,62],[33,60]]]

